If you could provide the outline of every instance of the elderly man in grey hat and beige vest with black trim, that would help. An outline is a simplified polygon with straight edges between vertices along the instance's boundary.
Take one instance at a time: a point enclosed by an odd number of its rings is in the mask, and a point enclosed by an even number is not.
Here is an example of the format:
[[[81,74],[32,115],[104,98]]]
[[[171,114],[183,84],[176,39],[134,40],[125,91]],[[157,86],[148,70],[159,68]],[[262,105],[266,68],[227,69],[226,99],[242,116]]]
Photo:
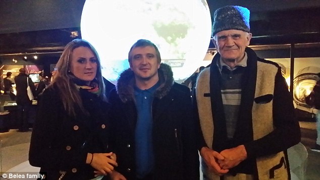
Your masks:
[[[249,10],[218,9],[218,54],[198,77],[199,151],[204,179],[288,179],[287,149],[300,141],[292,97],[280,67],[257,57]]]

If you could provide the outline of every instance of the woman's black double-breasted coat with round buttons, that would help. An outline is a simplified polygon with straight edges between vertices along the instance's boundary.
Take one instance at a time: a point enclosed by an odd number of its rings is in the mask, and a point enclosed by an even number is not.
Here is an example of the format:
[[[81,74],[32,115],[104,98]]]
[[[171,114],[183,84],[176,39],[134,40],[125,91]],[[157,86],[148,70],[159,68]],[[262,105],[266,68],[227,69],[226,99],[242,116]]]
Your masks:
[[[33,128],[29,162],[41,167],[47,179],[91,179],[94,169],[86,164],[87,153],[107,153],[108,114],[110,105],[95,94],[80,89],[85,115],[79,108],[77,117],[70,117],[64,110],[56,86],[47,88],[37,110]]]

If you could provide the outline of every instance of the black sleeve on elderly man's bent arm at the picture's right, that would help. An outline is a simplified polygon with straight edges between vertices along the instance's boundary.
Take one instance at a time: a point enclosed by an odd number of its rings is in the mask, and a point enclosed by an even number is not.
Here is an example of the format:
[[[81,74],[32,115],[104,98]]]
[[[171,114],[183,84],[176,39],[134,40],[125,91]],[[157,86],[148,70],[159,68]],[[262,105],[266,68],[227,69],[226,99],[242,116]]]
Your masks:
[[[300,142],[299,122],[294,116],[293,98],[279,69],[275,77],[273,121],[275,130],[245,144],[248,158],[275,154]]]

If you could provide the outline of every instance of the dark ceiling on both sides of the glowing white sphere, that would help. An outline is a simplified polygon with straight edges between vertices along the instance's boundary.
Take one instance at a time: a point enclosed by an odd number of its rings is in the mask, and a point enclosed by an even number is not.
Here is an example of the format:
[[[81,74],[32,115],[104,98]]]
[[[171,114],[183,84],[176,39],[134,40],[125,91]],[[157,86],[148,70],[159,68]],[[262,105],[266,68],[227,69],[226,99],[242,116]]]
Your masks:
[[[203,1],[203,0],[202,0]],[[20,53],[59,55],[78,31],[85,0],[1,0],[0,59]],[[320,43],[319,0],[207,1],[211,19],[226,5],[250,11],[252,45]],[[213,47],[210,44],[210,47]]]

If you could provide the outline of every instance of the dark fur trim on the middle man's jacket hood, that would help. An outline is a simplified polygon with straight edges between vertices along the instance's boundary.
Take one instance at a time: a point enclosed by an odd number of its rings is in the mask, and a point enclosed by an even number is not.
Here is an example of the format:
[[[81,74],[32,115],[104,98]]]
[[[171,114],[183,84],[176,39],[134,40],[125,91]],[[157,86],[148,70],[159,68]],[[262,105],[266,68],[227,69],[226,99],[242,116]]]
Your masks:
[[[173,79],[171,67],[167,64],[162,63],[160,65],[160,68],[158,69],[158,76],[160,86],[155,90],[154,97],[161,99],[168,94],[175,81]],[[117,93],[119,94],[122,102],[134,100],[134,86],[134,73],[129,68],[120,74],[116,86]]]

